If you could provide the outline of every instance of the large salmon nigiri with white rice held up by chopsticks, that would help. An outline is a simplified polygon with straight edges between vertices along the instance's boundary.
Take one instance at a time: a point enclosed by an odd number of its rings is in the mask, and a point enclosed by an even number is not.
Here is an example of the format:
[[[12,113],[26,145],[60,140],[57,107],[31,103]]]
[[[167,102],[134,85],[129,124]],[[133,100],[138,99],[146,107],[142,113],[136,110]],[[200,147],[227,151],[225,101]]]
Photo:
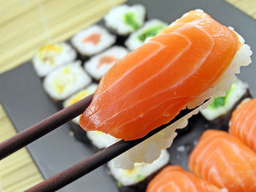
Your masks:
[[[236,32],[200,9],[188,12],[116,62],[99,82],[80,126],[118,139],[144,137],[184,108],[225,95],[251,54]],[[127,155],[122,161],[151,163],[162,148],[170,147],[175,128],[184,126],[186,120],[170,126],[140,145],[143,151],[132,149],[136,157]]]

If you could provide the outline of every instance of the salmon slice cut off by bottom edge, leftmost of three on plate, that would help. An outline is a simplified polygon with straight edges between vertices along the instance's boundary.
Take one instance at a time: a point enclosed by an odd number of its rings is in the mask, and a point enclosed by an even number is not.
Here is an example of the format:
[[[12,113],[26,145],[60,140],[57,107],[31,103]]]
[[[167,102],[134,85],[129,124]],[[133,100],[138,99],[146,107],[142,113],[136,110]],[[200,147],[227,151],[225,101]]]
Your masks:
[[[166,166],[148,184],[146,192],[220,192],[216,186],[201,180],[180,166]]]

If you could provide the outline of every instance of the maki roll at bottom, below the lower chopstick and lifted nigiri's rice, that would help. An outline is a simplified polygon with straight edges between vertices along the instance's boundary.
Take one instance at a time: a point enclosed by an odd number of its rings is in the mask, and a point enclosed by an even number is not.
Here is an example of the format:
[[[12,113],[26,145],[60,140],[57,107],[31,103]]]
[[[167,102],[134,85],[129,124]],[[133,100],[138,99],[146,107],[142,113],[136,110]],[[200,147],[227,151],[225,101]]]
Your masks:
[[[151,164],[136,163],[134,169],[118,169],[115,161],[109,161],[107,166],[109,173],[115,178],[119,191],[146,191],[149,181],[170,163],[170,155],[167,150],[162,150],[159,158]]]

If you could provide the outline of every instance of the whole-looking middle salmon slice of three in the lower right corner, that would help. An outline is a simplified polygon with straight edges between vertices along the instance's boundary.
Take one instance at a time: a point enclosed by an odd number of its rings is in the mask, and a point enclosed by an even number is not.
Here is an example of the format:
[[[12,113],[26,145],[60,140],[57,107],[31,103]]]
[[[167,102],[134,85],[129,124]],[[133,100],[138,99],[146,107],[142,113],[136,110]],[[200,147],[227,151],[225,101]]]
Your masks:
[[[256,192],[256,154],[225,131],[208,130],[189,156],[197,176],[232,192]]]

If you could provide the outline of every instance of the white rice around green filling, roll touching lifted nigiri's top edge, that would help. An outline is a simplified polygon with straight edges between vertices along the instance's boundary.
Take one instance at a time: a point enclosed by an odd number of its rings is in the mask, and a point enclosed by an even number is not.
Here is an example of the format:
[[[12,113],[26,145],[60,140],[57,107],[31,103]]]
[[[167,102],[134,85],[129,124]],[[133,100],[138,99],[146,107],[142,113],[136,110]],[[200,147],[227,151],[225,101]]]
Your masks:
[[[162,28],[164,28],[165,26],[167,26],[167,23],[162,22],[162,20],[158,20],[158,19],[148,20],[142,28],[130,34],[128,39],[124,42],[124,45],[127,46],[129,50],[137,49],[138,47],[144,44],[144,41],[141,41],[139,38],[140,35],[154,26],[161,26]]]

